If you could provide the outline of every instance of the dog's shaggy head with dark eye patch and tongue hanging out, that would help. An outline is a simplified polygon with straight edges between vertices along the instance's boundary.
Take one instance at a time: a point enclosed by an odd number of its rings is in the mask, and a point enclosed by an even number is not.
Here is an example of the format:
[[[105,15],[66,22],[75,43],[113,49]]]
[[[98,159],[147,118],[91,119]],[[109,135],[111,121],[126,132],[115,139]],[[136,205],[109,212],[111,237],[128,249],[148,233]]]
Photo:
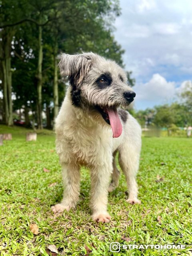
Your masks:
[[[105,120],[111,125],[113,137],[119,137],[122,124],[117,108],[129,105],[136,96],[124,70],[92,52],[62,54],[59,67],[61,74],[69,78],[72,104],[100,122]]]

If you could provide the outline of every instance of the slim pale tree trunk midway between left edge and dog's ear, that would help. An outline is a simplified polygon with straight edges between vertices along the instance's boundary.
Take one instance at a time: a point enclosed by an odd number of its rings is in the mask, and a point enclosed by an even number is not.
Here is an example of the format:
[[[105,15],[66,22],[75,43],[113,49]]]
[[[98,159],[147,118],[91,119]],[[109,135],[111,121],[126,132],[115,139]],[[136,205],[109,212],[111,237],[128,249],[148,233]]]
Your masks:
[[[42,124],[42,62],[43,62],[43,46],[42,46],[42,26],[39,26],[39,40],[38,40],[39,54],[38,54],[38,70],[37,70],[37,122],[38,129],[43,128]]]

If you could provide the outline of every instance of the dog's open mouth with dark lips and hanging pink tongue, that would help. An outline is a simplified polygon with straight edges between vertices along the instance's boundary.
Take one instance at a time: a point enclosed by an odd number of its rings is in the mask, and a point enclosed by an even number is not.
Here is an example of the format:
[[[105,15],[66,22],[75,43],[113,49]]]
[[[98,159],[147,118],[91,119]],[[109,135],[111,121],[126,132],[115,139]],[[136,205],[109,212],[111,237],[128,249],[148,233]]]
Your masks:
[[[122,124],[116,107],[96,106],[106,123],[110,124],[113,131],[113,138],[122,134]]]

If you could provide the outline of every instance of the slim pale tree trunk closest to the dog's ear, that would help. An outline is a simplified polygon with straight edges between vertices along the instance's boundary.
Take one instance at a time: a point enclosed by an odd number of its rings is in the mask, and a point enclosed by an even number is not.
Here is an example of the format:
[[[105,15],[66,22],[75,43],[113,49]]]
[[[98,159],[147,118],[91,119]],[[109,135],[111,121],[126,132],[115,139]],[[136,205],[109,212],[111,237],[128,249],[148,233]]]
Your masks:
[[[59,95],[58,95],[58,44],[56,42],[54,47],[54,82],[53,82],[53,95],[54,95],[54,123],[59,112]]]

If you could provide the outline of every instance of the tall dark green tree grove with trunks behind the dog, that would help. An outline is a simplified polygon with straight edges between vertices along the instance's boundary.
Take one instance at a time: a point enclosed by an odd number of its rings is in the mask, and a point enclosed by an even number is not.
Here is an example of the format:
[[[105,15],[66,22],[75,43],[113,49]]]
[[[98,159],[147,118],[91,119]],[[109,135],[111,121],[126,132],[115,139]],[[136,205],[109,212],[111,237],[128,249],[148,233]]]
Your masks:
[[[32,119],[42,128],[44,110],[51,126],[65,93],[62,52],[93,51],[123,66],[124,50],[112,34],[118,15],[118,0],[0,1],[3,121],[12,125],[13,110],[23,108],[26,125]]]

